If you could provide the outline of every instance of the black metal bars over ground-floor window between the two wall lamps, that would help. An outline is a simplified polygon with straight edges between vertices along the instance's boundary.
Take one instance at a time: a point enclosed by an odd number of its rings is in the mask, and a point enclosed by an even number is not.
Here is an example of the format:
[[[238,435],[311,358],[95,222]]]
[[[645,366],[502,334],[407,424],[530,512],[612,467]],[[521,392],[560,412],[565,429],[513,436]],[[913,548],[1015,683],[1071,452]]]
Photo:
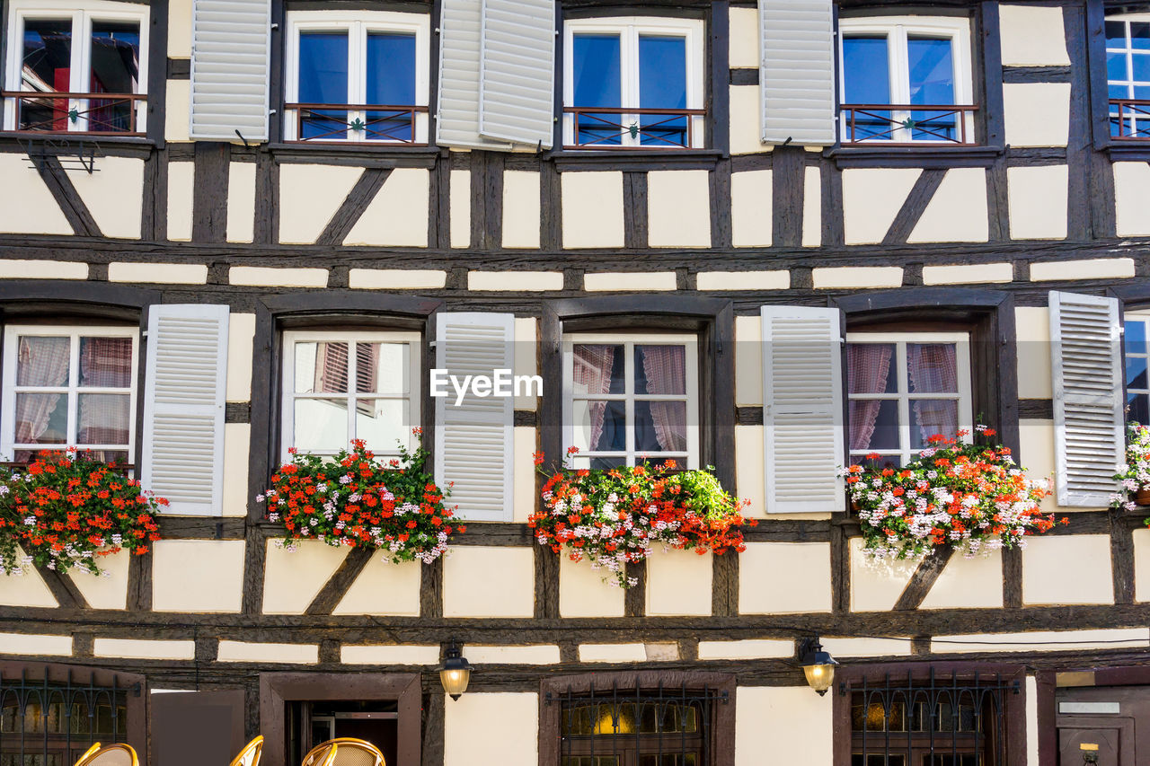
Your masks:
[[[560,766],[711,766],[714,705],[727,692],[687,685],[547,694],[560,705]]]

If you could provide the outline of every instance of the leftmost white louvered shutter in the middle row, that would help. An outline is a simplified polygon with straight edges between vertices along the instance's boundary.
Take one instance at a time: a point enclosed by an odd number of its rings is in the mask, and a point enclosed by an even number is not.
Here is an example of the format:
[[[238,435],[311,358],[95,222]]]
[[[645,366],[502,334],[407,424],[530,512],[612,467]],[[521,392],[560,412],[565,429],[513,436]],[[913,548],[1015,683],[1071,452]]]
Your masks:
[[[152,306],[140,481],[168,513],[222,513],[227,377],[227,306]]]

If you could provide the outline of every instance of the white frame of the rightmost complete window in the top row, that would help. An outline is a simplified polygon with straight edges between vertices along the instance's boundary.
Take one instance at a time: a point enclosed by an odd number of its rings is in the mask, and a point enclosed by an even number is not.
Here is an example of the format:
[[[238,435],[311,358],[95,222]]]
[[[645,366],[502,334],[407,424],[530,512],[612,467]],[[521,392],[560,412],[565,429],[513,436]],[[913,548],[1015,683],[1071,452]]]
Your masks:
[[[868,18],[842,18],[838,21],[838,102],[845,104],[846,64],[843,56],[843,40],[853,36],[884,35],[887,37],[888,69],[890,71],[891,104],[910,104],[911,72],[910,53],[906,41],[911,37],[949,38],[951,40],[951,60],[954,66],[954,106],[974,104],[974,74],[971,61],[971,20],[966,17],[948,18],[944,16],[889,16]],[[891,120],[908,120],[908,110],[891,112]],[[974,141],[974,115],[967,112],[963,120],[966,123],[967,143]],[[843,141],[850,140],[850,117],[839,116],[839,131]],[[860,141],[856,141],[860,143]],[[890,139],[871,139],[861,143],[884,144],[951,144],[935,138],[914,138],[907,128],[896,129]]]

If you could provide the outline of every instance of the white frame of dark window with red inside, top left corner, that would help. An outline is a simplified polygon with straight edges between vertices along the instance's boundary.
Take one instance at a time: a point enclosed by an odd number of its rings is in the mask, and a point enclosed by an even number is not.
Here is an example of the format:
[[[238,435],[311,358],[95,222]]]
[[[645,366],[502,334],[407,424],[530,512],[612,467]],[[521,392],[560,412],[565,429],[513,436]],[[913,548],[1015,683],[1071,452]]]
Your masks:
[[[23,91],[21,78],[24,54],[24,22],[28,18],[70,18],[72,29],[71,82],[72,93],[86,93],[92,61],[92,22],[136,22],[140,25],[140,62],[136,91],[147,95],[148,74],[148,6],[110,0],[10,0],[8,3],[8,61],[5,63],[5,90]],[[3,129],[16,130],[15,99],[5,99]],[[87,109],[87,99],[69,99],[69,109],[80,113]],[[136,101],[136,132],[147,130],[147,101]],[[75,123],[69,122],[68,132],[87,130],[87,117],[83,114]]]

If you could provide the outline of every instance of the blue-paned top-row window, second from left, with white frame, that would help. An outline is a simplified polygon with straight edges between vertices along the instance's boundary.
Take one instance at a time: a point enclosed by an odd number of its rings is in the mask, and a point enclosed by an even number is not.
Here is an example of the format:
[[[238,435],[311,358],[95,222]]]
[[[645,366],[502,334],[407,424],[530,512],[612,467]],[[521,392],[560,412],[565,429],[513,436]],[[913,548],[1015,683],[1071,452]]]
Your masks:
[[[293,10],[288,30],[289,140],[427,144],[428,14]]]

